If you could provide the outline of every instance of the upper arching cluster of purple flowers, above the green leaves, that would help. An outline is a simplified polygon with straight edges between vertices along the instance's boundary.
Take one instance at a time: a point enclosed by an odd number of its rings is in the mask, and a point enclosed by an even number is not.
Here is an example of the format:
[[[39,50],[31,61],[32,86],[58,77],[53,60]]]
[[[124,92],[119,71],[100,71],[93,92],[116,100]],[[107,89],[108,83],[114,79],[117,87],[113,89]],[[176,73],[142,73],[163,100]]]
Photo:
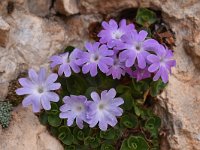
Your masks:
[[[171,68],[176,65],[171,50],[148,38],[146,31],[137,32],[126,20],[121,20],[119,25],[113,19],[108,23],[104,21],[102,27],[99,42],[86,43],[86,51],[75,49],[71,54],[67,52],[51,58],[52,67],[60,65],[59,75],[64,72],[69,77],[71,69],[78,73],[81,67],[84,74],[90,73],[92,77],[99,69],[113,79],[128,73],[139,81],[153,74],[154,81],[161,78],[167,83]]]

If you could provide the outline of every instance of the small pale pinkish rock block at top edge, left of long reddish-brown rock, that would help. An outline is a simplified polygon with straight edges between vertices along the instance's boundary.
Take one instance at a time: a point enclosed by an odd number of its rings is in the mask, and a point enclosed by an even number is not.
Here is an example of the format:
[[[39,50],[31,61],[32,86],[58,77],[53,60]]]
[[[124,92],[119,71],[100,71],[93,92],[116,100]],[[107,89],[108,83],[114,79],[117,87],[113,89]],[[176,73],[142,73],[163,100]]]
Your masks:
[[[77,0],[56,0],[55,10],[63,15],[69,16],[79,13]]]

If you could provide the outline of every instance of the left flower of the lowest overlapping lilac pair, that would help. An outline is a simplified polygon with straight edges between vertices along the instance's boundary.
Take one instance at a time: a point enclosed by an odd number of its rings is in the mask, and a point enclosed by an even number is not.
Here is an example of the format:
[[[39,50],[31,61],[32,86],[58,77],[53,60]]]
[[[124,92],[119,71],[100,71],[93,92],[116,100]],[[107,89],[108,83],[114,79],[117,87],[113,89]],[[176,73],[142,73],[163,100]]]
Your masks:
[[[71,126],[76,119],[76,124],[83,128],[83,121],[86,122],[87,98],[85,96],[71,95],[63,98],[64,105],[60,107],[60,118],[67,118],[67,126]]]

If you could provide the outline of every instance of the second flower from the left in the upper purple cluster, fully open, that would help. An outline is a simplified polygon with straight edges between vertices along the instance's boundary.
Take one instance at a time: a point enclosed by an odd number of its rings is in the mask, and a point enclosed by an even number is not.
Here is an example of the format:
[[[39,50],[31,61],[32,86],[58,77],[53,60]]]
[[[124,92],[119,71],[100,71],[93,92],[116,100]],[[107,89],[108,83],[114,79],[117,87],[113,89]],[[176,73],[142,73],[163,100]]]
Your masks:
[[[113,59],[110,57],[113,55],[113,51],[108,50],[106,45],[100,46],[98,42],[94,44],[86,43],[85,48],[87,52],[82,52],[76,61],[78,65],[83,65],[83,73],[90,72],[91,76],[94,77],[97,75],[97,67],[103,73],[107,73],[109,66],[113,64]]]

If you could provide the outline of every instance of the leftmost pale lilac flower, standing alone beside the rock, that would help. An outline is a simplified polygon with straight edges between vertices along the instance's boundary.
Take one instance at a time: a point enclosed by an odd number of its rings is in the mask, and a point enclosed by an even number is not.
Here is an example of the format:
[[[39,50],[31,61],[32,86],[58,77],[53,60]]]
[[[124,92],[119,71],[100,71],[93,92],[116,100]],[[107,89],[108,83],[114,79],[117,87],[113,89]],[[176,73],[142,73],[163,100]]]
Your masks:
[[[22,104],[24,107],[32,105],[33,112],[39,112],[42,108],[51,109],[50,101],[58,102],[59,96],[51,92],[60,88],[60,83],[54,83],[58,75],[55,73],[46,76],[46,70],[41,68],[37,74],[33,69],[28,71],[29,78],[20,78],[19,83],[23,86],[16,90],[18,95],[27,95]]]

